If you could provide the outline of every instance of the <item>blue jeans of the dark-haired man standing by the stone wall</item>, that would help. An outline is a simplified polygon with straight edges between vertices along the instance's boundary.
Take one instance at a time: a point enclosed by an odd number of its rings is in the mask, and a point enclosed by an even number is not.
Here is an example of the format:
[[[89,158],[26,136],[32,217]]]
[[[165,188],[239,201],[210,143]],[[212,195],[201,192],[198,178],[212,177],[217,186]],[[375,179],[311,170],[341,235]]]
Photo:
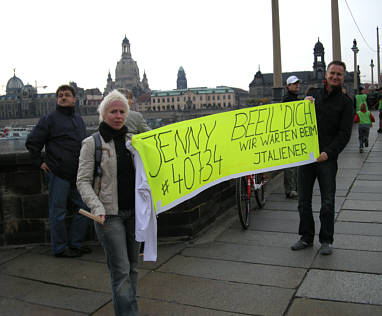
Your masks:
[[[82,201],[75,184],[57,177],[52,172],[46,176],[49,188],[48,203],[52,251],[54,254],[58,254],[63,252],[66,247],[80,248],[89,227],[89,219],[79,214],[78,210],[80,208],[88,210],[88,208]],[[70,225],[69,240],[65,225],[68,198],[71,199],[75,207],[75,214]]]

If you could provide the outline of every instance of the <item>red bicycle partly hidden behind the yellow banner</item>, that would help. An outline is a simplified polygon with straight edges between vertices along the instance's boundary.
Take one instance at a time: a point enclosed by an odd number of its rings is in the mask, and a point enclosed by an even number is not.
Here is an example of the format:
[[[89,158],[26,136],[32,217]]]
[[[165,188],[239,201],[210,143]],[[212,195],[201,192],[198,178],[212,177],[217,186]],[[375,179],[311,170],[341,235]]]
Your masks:
[[[240,223],[244,229],[248,229],[251,222],[250,212],[254,203],[253,197],[255,197],[258,208],[263,208],[265,205],[265,183],[265,176],[262,173],[236,179],[236,203]]]

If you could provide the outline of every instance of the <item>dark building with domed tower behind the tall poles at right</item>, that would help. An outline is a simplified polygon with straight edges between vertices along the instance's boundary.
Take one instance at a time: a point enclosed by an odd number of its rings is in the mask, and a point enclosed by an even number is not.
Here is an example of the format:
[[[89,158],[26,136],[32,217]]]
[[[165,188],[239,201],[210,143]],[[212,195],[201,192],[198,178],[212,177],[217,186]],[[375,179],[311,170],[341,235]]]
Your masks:
[[[349,65],[347,65],[349,66]],[[282,73],[283,85],[286,85],[286,79],[295,75],[300,81],[299,94],[304,95],[310,87],[321,87],[324,84],[326,72],[325,49],[324,45],[318,39],[313,48],[313,71],[294,71]],[[353,97],[353,76],[354,72],[345,72],[344,87],[350,97]],[[358,76],[359,78],[359,76]],[[252,82],[249,84],[249,96],[254,99],[272,99],[273,73],[263,74],[259,70],[256,72]],[[285,92],[284,92],[285,93]]]

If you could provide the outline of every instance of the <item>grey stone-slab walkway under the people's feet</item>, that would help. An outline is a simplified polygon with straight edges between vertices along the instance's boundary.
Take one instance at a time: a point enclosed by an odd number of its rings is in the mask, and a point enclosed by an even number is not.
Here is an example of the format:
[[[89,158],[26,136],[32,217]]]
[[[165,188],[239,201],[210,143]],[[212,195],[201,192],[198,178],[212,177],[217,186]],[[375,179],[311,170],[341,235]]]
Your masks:
[[[375,113],[377,117],[377,113]],[[277,177],[243,231],[236,209],[193,241],[162,241],[140,266],[141,316],[382,315],[382,135],[358,152],[357,130],[339,159],[334,253],[318,242],[293,252],[296,201]],[[319,196],[313,206],[318,222]],[[317,228],[319,225],[317,225]],[[113,315],[100,247],[79,259],[47,246],[0,250],[0,315]]]

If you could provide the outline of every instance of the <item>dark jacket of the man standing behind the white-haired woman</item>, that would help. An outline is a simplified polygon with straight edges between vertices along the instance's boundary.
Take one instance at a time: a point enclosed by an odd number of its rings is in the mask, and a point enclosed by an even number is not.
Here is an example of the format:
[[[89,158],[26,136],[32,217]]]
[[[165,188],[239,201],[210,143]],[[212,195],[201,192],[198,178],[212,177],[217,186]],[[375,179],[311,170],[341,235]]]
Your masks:
[[[85,123],[74,113],[74,108],[57,105],[55,111],[40,119],[28,135],[25,146],[36,167],[45,161],[56,176],[75,181],[85,136]],[[44,146],[45,158],[41,155]]]

